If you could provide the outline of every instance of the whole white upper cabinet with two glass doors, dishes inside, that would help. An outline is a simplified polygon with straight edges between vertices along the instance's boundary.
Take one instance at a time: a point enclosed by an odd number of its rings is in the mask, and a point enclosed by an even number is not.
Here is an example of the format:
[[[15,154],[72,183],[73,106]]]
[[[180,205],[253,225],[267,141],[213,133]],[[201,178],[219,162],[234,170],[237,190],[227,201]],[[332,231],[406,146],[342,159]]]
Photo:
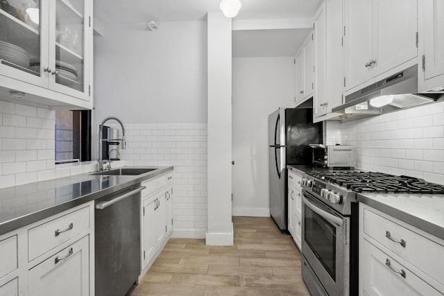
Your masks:
[[[92,1],[9,3],[0,9],[1,93],[14,89],[30,103],[92,107]]]

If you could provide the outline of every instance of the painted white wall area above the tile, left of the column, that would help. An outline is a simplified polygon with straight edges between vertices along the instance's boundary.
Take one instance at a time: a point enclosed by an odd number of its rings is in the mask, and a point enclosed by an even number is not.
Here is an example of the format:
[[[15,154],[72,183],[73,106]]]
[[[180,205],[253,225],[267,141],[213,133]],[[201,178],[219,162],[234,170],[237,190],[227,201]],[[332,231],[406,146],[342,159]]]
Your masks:
[[[94,38],[95,121],[207,122],[207,23],[108,26]]]

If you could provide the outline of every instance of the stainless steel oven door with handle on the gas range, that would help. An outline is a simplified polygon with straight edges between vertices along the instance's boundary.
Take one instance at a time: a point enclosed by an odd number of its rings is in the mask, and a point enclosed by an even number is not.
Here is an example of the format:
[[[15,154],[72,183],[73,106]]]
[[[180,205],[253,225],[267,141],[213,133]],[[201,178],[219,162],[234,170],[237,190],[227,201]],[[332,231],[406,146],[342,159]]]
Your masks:
[[[311,193],[303,192],[302,255],[309,266],[302,265],[302,269],[311,268],[316,277],[308,280],[320,281],[328,295],[350,292],[349,224],[350,218],[337,214]]]

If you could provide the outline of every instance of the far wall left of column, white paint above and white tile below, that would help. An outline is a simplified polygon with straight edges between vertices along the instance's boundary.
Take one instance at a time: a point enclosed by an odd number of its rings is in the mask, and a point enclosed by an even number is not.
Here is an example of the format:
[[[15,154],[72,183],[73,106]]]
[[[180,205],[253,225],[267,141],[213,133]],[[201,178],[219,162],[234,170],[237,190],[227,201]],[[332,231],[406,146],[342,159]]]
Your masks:
[[[94,126],[107,116],[123,121],[126,165],[174,166],[173,236],[204,238],[207,22],[158,25],[107,26],[94,39]]]

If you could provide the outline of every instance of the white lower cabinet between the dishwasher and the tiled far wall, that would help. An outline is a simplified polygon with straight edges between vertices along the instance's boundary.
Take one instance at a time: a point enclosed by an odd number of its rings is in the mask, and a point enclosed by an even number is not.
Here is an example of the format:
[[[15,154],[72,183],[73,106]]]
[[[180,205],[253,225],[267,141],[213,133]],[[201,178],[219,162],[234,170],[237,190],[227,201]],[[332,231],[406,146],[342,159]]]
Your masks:
[[[142,191],[142,271],[139,279],[142,279],[151,267],[171,236],[173,230],[172,183],[172,172],[142,183],[146,189]]]

